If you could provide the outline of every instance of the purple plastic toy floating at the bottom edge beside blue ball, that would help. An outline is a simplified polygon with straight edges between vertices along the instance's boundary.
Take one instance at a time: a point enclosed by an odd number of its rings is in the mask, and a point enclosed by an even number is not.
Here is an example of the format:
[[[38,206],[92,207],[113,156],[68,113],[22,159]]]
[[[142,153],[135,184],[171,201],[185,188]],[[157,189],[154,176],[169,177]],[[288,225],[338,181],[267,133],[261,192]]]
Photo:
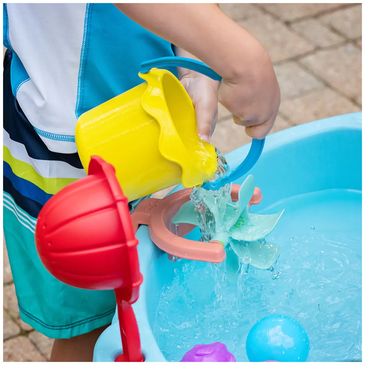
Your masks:
[[[235,362],[235,357],[227,350],[224,343],[214,342],[210,345],[195,345],[180,362]]]

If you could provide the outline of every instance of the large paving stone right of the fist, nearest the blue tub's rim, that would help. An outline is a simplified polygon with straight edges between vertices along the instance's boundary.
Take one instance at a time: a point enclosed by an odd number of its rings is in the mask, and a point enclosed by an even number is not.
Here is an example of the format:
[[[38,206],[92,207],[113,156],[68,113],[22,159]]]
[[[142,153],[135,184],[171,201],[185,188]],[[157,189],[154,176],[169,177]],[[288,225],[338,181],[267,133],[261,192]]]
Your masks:
[[[324,88],[293,100],[282,101],[279,111],[293,124],[302,124],[330,116],[357,112],[360,111],[360,108],[332,89]]]

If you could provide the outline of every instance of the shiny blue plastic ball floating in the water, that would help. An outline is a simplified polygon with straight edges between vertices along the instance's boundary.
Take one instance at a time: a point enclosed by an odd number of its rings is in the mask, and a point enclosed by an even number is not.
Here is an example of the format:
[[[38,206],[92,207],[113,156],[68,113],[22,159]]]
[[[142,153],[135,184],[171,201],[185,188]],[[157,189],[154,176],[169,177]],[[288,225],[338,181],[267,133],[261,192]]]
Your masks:
[[[259,320],[246,340],[249,361],[306,361],[309,339],[304,328],[294,319],[270,315]]]

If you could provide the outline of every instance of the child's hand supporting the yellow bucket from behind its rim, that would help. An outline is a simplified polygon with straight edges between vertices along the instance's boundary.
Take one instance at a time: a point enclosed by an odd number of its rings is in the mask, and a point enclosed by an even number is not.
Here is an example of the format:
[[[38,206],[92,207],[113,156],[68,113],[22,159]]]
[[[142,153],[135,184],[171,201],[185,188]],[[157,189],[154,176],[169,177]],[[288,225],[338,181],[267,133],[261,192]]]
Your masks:
[[[177,55],[197,59],[182,49],[177,49]],[[209,142],[218,119],[217,94],[220,82],[181,67],[177,68],[177,72],[181,84],[194,104],[198,135],[202,141]]]

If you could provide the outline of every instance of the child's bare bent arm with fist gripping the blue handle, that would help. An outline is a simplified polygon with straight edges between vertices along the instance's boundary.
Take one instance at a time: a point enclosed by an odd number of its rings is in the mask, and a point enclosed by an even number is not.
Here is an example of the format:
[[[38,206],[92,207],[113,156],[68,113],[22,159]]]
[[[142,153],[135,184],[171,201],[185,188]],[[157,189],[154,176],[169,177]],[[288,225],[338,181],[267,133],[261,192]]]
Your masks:
[[[270,131],[280,90],[264,47],[215,4],[115,4],[129,18],[220,74],[219,101],[253,138]]]

